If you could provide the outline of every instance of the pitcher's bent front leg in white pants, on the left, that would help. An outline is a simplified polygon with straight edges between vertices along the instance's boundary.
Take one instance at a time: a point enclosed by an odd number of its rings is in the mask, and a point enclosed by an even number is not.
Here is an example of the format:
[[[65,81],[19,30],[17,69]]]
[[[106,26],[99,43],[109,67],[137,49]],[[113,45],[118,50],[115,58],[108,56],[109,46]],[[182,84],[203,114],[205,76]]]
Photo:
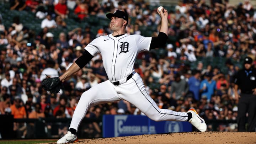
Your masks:
[[[118,100],[120,99],[117,97],[117,93],[109,81],[91,87],[91,89],[82,94],[78,105],[75,108],[69,128],[78,130],[82,119],[85,117],[85,114],[90,107],[102,103],[116,102]]]

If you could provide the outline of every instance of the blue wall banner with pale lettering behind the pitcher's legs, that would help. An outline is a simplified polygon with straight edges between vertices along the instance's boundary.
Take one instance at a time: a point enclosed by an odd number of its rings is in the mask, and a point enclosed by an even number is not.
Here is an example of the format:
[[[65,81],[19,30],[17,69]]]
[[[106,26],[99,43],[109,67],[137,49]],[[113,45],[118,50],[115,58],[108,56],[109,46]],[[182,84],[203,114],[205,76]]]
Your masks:
[[[102,122],[104,138],[192,131],[192,125],[188,122],[155,122],[147,116],[104,115]]]

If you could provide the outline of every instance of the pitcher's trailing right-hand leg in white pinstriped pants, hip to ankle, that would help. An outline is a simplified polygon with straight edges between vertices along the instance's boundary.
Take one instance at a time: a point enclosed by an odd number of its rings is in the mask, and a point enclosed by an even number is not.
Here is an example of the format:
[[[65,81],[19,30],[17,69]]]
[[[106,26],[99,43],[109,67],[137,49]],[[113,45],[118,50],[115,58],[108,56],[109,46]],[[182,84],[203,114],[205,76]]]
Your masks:
[[[121,85],[121,98],[135,105],[140,111],[154,121],[187,121],[186,112],[175,112],[167,109],[160,109],[155,101],[146,91],[142,79],[138,74]]]

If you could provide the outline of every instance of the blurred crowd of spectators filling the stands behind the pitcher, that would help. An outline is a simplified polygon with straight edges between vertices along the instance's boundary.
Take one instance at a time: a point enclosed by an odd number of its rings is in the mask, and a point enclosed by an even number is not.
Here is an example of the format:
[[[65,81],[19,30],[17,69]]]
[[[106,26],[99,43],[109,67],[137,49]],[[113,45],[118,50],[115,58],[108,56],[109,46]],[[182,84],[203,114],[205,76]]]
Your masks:
[[[0,114],[13,114],[14,118],[71,118],[82,92],[107,80],[102,57],[98,54],[89,64],[69,80],[63,82],[58,94],[42,89],[47,76],[60,76],[82,55],[83,48],[95,37],[110,34],[107,27],[97,30],[78,27],[61,32],[57,40],[51,29],[69,27],[65,20],[73,12],[78,23],[84,18],[106,17],[107,12],[123,10],[134,24],[127,26],[128,34],[142,34],[140,27],[155,26],[157,36],[160,17],[157,3],[143,0],[10,0],[10,10],[31,11],[42,20],[41,31],[33,32],[15,17],[10,27],[0,17]],[[150,5],[155,5],[154,9]],[[236,120],[238,97],[234,95],[234,76],[245,56],[255,60],[256,13],[249,0],[233,6],[229,0],[178,1],[169,10],[169,39],[165,48],[142,52],[134,65],[143,78],[146,89],[161,108],[186,112],[197,109],[206,120]],[[219,30],[217,31],[217,29]],[[33,41],[31,41],[33,39]],[[158,51],[164,49],[164,54]],[[223,58],[226,72],[203,59]],[[202,61],[200,61],[202,60]],[[193,67],[192,64],[195,64]],[[103,114],[143,114],[126,101],[91,107],[87,118],[101,118]],[[27,137],[25,125],[15,125],[21,137]],[[81,127],[90,137],[101,137],[101,124]],[[22,129],[23,128],[23,129]],[[48,125],[50,129],[50,125]],[[58,137],[66,133],[63,126]],[[208,129],[237,131],[236,124],[220,124]]]

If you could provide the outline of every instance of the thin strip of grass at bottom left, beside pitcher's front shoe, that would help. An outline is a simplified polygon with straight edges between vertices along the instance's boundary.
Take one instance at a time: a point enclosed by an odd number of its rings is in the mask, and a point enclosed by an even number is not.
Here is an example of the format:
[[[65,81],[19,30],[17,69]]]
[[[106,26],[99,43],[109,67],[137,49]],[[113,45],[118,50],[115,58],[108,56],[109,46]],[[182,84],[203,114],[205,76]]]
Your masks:
[[[0,144],[38,144],[55,143],[56,140],[0,140]]]

